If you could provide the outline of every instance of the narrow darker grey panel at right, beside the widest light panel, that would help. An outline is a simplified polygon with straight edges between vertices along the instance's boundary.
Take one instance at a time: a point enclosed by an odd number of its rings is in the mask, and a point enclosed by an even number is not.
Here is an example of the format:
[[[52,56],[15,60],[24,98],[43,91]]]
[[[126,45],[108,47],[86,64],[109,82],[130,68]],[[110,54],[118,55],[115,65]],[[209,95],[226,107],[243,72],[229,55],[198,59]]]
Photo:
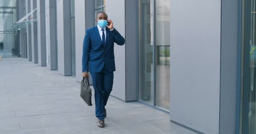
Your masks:
[[[237,0],[222,0],[220,133],[235,134]]]

